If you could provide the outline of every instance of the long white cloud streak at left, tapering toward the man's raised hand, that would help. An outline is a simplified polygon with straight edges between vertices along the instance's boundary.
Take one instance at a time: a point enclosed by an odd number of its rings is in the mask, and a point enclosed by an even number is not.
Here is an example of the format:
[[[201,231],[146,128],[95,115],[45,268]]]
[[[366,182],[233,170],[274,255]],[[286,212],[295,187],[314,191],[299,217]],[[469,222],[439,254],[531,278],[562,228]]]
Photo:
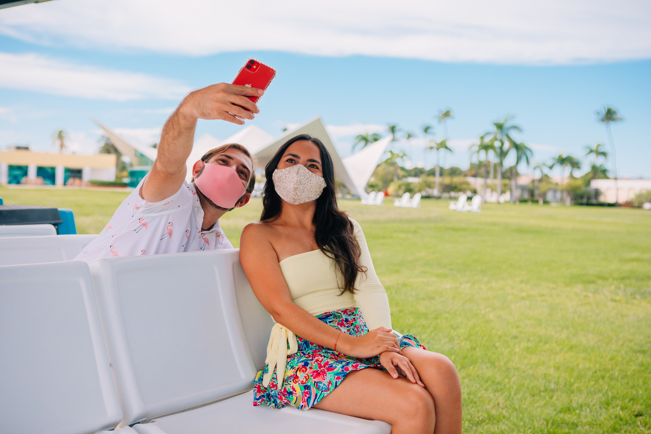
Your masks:
[[[178,100],[191,90],[176,80],[77,65],[38,54],[0,53],[0,65],[0,87],[9,89],[113,101]]]

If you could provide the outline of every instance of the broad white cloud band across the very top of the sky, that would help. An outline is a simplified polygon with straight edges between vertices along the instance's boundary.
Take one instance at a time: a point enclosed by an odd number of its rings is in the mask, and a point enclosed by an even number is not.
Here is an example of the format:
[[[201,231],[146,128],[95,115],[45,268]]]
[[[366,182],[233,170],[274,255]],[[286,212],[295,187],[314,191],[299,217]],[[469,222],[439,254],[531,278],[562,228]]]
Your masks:
[[[278,50],[531,64],[646,59],[650,21],[644,0],[66,0],[3,10],[0,33],[183,55]]]

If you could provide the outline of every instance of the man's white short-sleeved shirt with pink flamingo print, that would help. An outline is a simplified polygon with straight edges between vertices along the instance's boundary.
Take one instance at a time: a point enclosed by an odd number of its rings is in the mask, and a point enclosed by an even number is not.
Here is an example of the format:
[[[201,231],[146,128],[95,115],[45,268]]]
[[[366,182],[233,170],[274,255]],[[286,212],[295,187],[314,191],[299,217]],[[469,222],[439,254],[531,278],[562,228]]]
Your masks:
[[[173,196],[150,203],[139,194],[144,181],[124,199],[100,235],[76,260],[233,248],[219,221],[210,230],[201,230],[204,212],[194,184],[184,181]]]

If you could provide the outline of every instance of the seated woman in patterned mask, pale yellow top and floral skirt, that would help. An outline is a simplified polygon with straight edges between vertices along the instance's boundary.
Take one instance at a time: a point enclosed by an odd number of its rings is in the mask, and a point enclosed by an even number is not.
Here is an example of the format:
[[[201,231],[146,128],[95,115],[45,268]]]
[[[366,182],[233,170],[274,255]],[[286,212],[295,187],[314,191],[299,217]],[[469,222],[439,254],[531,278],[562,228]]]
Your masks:
[[[337,208],[323,143],[293,137],[266,177],[260,222],[240,239],[244,272],[276,321],[254,405],[383,420],[393,434],[460,433],[456,369],[413,336],[392,332],[361,227]]]

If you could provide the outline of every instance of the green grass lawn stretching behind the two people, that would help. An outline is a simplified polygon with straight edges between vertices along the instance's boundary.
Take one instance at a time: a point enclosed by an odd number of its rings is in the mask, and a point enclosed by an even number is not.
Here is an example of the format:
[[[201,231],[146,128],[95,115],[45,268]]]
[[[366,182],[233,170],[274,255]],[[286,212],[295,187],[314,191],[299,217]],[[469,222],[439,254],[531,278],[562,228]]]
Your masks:
[[[97,233],[125,192],[0,188]],[[393,324],[456,364],[467,433],[651,432],[651,212],[487,204],[480,214],[341,201]],[[222,219],[238,246],[260,200]]]

